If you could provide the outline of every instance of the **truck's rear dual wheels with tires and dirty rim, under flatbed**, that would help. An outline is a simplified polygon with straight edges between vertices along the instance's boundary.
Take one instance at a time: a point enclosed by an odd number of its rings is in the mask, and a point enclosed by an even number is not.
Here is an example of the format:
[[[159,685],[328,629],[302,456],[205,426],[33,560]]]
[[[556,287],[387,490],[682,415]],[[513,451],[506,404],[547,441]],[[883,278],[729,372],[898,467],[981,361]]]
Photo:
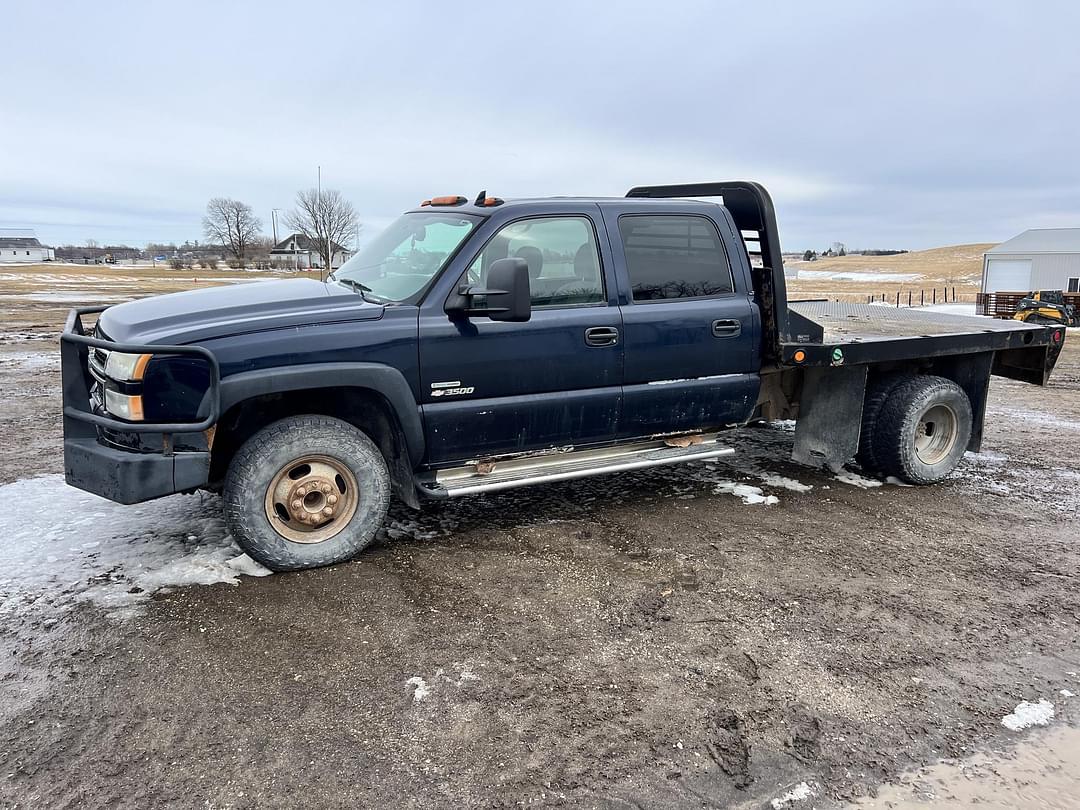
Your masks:
[[[971,426],[971,403],[958,384],[929,375],[904,378],[877,417],[880,472],[909,484],[936,484],[960,463]]]

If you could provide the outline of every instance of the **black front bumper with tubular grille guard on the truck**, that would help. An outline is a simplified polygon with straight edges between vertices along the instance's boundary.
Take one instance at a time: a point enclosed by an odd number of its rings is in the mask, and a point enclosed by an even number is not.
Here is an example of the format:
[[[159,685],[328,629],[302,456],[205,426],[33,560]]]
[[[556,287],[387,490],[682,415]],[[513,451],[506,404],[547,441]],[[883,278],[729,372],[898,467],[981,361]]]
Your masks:
[[[173,492],[205,486],[210,453],[173,450],[177,434],[207,430],[220,413],[220,372],[212,352],[198,346],[137,346],[116,343],[87,335],[82,315],[104,307],[71,310],[60,335],[60,373],[64,389],[64,475],[67,483],[118,503],[138,503]],[[98,413],[91,400],[94,377],[89,367],[91,349],[138,354],[188,354],[204,360],[211,369],[200,418],[191,422],[126,422]],[[203,416],[205,414],[205,416]],[[102,441],[102,431],[157,433],[161,453],[126,450]]]

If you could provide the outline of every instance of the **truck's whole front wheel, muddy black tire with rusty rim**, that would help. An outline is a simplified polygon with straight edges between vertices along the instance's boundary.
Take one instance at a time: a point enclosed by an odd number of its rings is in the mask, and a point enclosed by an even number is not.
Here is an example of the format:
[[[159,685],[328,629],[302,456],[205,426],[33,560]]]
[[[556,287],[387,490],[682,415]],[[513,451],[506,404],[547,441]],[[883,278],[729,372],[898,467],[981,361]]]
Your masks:
[[[225,521],[240,546],[274,571],[349,559],[375,539],[390,474],[375,443],[327,416],[267,426],[233,456]]]

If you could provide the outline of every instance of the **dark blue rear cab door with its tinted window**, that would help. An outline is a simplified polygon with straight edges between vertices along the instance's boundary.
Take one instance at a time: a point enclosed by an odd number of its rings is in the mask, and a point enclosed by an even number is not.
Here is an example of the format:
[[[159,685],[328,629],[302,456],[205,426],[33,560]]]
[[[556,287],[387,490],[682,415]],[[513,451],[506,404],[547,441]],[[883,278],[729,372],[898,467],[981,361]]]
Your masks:
[[[745,252],[734,253],[723,213],[639,203],[604,210],[623,321],[621,437],[724,427],[753,413],[760,315]]]

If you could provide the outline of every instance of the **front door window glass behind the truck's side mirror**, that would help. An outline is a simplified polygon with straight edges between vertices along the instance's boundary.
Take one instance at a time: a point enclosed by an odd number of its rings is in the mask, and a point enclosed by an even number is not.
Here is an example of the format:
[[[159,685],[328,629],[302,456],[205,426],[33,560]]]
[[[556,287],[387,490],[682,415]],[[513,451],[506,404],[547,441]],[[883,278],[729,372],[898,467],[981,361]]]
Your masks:
[[[534,307],[604,303],[596,232],[586,217],[521,219],[504,226],[484,246],[468,276],[483,282],[492,262],[525,259]]]

